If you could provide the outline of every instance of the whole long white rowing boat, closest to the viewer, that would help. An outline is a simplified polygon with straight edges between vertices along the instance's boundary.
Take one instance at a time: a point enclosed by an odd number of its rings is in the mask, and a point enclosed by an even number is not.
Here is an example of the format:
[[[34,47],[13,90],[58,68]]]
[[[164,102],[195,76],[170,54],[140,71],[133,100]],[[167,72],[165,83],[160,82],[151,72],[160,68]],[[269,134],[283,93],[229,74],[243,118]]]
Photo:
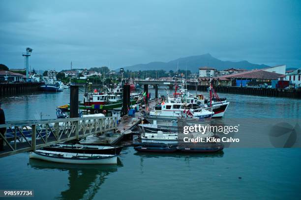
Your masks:
[[[30,158],[68,164],[117,164],[117,155],[107,154],[85,154],[36,150],[30,152]]]

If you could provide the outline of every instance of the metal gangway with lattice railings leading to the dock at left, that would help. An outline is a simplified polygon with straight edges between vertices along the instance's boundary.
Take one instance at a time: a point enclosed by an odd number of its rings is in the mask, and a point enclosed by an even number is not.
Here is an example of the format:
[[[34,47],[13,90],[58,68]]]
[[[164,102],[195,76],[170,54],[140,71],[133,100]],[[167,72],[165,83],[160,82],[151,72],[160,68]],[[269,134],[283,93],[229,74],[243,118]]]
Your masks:
[[[117,130],[117,117],[8,121],[1,124],[0,128],[6,128],[4,137],[0,134],[0,138],[4,140],[4,150],[0,151],[0,157],[5,157]]]

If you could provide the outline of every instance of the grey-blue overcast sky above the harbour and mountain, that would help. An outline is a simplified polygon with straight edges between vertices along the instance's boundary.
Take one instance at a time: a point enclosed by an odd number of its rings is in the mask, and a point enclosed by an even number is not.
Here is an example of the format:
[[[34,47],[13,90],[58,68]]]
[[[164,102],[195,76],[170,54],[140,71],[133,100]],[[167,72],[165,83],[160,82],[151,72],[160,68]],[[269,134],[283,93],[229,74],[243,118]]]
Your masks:
[[[1,0],[0,63],[112,69],[210,53],[301,67],[298,0]]]

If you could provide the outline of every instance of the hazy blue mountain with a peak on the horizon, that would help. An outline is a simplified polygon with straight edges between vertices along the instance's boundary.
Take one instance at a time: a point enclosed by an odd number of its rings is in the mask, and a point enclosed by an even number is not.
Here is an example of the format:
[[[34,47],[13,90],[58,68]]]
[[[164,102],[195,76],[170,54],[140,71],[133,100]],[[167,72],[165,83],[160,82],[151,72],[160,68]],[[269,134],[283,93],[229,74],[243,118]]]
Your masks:
[[[233,61],[223,61],[212,57],[210,54],[204,54],[200,56],[190,56],[190,57],[181,57],[175,60],[171,60],[169,62],[150,62],[147,64],[135,64],[131,66],[123,67],[124,70],[130,71],[139,71],[139,70],[160,70],[163,69],[165,71],[177,70],[177,66],[179,65],[179,69],[190,70],[191,72],[198,72],[199,67],[210,66],[217,70],[228,69],[228,68],[237,68],[237,69],[260,69],[264,67],[269,67],[265,64],[253,64],[246,60],[233,62]],[[117,69],[119,70],[119,69]]]

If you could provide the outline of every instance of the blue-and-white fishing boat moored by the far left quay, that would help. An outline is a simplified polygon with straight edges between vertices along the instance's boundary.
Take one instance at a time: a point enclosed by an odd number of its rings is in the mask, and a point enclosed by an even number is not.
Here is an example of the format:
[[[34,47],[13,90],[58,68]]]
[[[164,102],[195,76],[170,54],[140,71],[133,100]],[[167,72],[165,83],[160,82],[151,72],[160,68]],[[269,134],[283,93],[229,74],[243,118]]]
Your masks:
[[[62,91],[60,88],[60,82],[57,81],[56,78],[57,72],[55,70],[51,70],[47,72],[47,76],[43,77],[44,84],[40,86],[42,91],[48,92],[59,92]]]

